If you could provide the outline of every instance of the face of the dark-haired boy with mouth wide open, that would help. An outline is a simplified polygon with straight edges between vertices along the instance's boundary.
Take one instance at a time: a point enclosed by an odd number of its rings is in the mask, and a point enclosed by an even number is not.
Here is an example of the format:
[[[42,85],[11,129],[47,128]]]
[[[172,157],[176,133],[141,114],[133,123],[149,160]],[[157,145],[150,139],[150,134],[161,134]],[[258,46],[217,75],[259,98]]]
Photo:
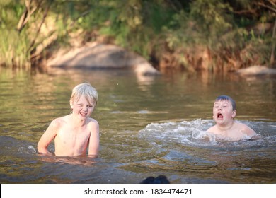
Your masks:
[[[214,102],[213,118],[217,124],[227,124],[236,116],[236,110],[233,110],[232,104],[228,100],[219,100]]]

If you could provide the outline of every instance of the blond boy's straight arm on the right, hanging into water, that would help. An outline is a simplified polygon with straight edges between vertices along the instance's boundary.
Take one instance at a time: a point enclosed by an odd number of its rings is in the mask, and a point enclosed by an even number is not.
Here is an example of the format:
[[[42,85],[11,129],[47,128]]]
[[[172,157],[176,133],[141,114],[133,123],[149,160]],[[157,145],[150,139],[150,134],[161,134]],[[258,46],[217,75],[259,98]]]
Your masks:
[[[94,120],[91,127],[91,134],[89,138],[88,156],[98,156],[98,149],[100,146],[100,134],[99,125],[96,120]]]

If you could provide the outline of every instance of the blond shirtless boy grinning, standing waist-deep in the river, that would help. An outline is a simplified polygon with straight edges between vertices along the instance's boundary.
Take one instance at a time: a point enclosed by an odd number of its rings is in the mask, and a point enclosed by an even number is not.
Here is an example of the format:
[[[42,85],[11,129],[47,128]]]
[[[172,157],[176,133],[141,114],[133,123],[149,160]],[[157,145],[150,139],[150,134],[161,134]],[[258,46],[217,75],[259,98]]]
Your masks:
[[[71,114],[54,119],[38,141],[38,152],[52,155],[47,150],[54,139],[55,156],[98,156],[99,125],[90,117],[98,93],[90,83],[75,86],[70,98]]]

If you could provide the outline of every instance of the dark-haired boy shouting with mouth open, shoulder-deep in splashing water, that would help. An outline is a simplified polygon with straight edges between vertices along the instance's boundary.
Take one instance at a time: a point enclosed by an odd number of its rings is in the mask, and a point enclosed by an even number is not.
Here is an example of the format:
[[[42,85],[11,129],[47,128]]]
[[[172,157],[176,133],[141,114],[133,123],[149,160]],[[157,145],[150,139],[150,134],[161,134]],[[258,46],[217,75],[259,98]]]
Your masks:
[[[217,124],[210,127],[207,132],[231,141],[258,137],[258,134],[246,124],[234,121],[234,117],[236,117],[235,101],[227,95],[220,95],[214,101],[213,107],[213,119]]]

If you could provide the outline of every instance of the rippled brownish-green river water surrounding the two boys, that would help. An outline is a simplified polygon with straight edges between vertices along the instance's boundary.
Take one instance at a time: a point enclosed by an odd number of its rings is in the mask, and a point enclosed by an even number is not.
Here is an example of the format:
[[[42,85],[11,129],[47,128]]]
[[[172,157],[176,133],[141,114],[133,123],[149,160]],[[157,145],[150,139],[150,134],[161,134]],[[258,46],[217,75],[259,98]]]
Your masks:
[[[135,76],[125,70],[0,69],[1,183],[275,183],[276,79],[236,74]],[[38,155],[40,136],[70,112],[71,89],[89,81],[99,94],[98,158]],[[218,95],[237,104],[238,122],[259,140],[207,136]],[[50,144],[54,152],[54,144]]]

